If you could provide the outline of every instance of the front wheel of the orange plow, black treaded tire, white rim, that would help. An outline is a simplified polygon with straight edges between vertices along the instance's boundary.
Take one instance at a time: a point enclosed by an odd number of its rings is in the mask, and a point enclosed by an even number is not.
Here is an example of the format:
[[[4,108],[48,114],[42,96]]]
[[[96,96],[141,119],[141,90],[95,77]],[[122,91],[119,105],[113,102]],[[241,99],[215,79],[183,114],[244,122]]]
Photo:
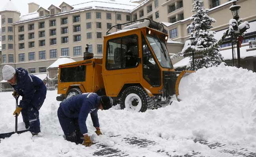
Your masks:
[[[129,97],[131,96],[130,94],[134,96],[132,96],[129,99]],[[129,97],[127,97],[128,95]],[[128,103],[126,102],[125,104],[126,100]],[[130,100],[132,102],[129,102]],[[140,102],[141,102],[141,106],[138,105],[140,104]],[[146,110],[153,108],[154,100],[148,95],[148,93],[143,88],[139,86],[131,86],[124,89],[124,91],[122,91],[120,96],[120,105],[121,105],[121,109],[128,108],[128,110],[145,112]]]

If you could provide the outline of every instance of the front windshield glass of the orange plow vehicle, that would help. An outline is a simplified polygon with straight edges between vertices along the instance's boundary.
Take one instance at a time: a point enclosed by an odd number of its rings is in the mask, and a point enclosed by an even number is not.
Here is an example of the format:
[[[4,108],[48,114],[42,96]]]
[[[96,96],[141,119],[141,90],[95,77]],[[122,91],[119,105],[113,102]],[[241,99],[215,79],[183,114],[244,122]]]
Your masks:
[[[150,35],[147,35],[147,39],[161,67],[173,69],[165,42],[160,40],[158,37],[153,37]]]

